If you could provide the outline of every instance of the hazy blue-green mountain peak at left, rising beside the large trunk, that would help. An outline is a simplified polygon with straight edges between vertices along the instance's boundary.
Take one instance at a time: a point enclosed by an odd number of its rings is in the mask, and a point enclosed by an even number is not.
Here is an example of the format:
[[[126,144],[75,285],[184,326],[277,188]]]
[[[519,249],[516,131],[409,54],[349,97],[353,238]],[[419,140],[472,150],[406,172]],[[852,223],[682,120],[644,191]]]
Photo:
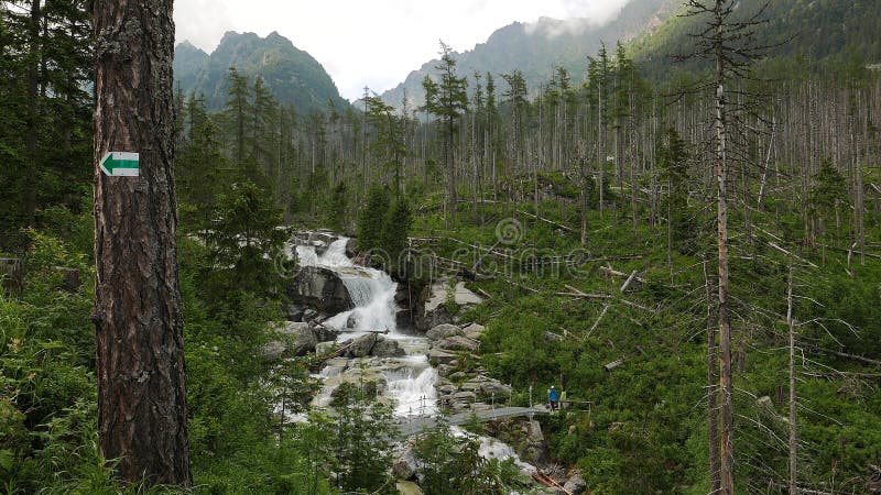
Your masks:
[[[349,105],[322,64],[276,32],[263,38],[227,32],[210,55],[186,41],[174,51],[176,84],[185,95],[203,95],[209,110],[224,107],[230,67],[251,81],[262,77],[281,103],[293,103],[300,112],[323,111],[330,102],[337,109]]]

